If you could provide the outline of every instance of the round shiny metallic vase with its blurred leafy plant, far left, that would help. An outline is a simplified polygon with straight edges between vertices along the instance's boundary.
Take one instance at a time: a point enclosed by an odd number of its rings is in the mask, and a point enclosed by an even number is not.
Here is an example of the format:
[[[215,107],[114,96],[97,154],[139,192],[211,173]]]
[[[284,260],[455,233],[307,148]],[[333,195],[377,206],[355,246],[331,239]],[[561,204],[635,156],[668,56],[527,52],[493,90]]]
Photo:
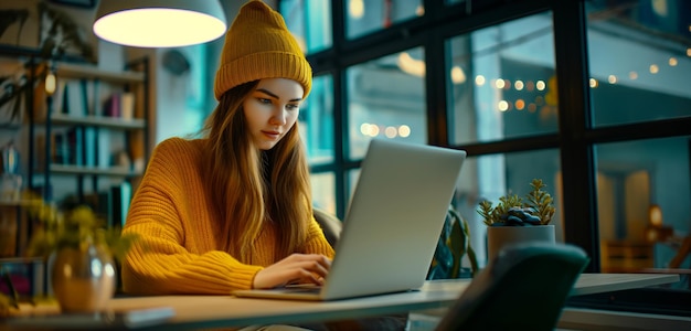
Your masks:
[[[105,228],[88,206],[61,213],[38,203],[29,212],[41,226],[32,235],[28,254],[46,258],[61,311],[103,310],[116,290],[115,259],[127,254],[136,236]]]

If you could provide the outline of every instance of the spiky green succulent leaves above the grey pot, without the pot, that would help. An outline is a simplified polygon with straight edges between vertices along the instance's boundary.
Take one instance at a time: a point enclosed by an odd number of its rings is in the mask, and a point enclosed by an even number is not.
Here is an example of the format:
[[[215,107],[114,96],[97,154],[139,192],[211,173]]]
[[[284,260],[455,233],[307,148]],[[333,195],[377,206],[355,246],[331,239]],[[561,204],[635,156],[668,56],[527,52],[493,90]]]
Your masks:
[[[546,186],[541,179],[533,179],[532,190],[525,201],[517,194],[499,197],[499,204],[492,206],[490,201],[480,202],[478,214],[488,226],[531,226],[548,225],[552,222],[555,209],[554,200],[543,189]]]

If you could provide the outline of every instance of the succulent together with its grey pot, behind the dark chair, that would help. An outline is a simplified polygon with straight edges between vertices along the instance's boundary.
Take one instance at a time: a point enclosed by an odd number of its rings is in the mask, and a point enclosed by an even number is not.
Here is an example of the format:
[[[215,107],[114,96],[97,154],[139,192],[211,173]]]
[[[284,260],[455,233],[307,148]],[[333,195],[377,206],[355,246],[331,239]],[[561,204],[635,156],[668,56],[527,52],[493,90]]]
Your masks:
[[[502,247],[531,241],[554,243],[554,200],[543,189],[541,179],[533,179],[532,190],[525,199],[517,194],[499,197],[499,204],[480,202],[478,213],[487,228],[488,260],[492,260]]]

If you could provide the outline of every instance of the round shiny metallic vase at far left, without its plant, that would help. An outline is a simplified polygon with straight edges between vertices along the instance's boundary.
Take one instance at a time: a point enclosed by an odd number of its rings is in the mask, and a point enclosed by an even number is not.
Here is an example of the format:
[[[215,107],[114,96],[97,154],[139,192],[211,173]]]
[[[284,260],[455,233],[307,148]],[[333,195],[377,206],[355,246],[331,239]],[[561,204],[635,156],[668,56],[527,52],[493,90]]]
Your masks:
[[[95,312],[115,295],[113,256],[96,245],[63,247],[50,259],[51,285],[63,312]]]

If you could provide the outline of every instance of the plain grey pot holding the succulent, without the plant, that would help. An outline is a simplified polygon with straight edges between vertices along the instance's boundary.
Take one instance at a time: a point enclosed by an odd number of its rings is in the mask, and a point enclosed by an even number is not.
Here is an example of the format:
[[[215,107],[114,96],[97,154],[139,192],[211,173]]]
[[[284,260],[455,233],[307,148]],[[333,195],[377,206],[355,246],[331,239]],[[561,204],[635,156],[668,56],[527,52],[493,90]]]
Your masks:
[[[493,260],[497,254],[506,246],[528,242],[554,244],[554,225],[487,227],[487,260]]]

